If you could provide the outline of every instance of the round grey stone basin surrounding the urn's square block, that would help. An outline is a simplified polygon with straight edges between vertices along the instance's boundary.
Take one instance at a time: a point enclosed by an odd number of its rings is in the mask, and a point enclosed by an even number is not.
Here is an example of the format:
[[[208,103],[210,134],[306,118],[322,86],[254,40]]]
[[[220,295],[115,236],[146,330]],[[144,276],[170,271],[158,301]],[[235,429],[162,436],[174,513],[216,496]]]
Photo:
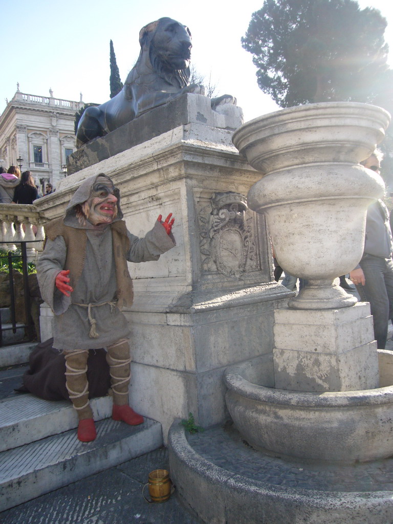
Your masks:
[[[261,361],[226,369],[226,404],[244,439],[289,459],[353,462],[393,456],[393,352],[378,350],[380,385],[308,392],[260,384]]]

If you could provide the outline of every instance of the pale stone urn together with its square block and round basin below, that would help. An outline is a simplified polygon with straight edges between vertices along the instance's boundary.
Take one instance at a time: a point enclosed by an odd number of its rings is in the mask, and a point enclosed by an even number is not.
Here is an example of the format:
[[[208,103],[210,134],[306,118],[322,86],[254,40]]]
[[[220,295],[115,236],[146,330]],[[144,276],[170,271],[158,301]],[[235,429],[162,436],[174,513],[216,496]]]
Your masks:
[[[250,208],[266,215],[281,267],[308,281],[275,311],[275,387],[256,363],[225,373],[228,410],[257,449],[328,462],[393,455],[393,377],[380,380],[369,306],[348,308],[356,298],[333,285],[361,259],[367,207],[384,194],[358,162],[388,124],[376,106],[321,103],[256,118],[233,135],[262,175]]]

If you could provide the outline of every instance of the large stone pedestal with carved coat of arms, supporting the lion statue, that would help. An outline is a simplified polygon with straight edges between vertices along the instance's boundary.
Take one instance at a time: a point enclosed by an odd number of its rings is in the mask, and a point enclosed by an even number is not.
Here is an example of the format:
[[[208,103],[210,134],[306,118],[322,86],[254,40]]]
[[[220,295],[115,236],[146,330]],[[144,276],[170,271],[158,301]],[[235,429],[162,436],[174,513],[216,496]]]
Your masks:
[[[173,419],[190,412],[204,427],[227,418],[228,365],[263,356],[272,377],[274,310],[293,296],[272,279],[264,217],[247,208],[259,173],[232,144],[241,110],[226,104],[213,112],[210,99],[195,94],[167,106],[146,114],[146,136],[137,118],[84,147],[74,158],[83,169],[36,204],[46,216],[60,216],[80,182],[104,172],[120,190],[135,235],[144,236],[159,214],[173,213],[176,247],[157,262],[129,265],[134,304],[125,311],[130,402],[162,423],[164,439]],[[155,122],[162,133],[151,137]],[[107,157],[105,144],[127,143]]]

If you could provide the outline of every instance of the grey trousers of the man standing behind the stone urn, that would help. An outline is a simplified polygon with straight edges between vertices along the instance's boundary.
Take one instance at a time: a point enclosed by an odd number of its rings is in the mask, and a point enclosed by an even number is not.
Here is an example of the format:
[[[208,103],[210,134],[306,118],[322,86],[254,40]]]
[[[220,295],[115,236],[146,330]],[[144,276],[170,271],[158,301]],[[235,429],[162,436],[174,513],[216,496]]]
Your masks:
[[[357,286],[359,295],[370,303],[374,322],[374,336],[377,347],[384,350],[388,335],[389,299],[385,284],[386,264],[383,258],[368,256],[360,263],[366,283]]]

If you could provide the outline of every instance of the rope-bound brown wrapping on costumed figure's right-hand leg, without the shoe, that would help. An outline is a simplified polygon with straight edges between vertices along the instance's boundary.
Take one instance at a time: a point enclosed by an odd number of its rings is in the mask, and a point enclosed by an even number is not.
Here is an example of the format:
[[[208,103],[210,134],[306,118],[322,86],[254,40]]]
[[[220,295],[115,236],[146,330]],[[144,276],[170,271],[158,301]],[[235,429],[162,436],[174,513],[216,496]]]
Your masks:
[[[110,366],[113,403],[116,406],[128,406],[128,385],[131,378],[128,341],[121,340],[108,346],[106,362]]]

